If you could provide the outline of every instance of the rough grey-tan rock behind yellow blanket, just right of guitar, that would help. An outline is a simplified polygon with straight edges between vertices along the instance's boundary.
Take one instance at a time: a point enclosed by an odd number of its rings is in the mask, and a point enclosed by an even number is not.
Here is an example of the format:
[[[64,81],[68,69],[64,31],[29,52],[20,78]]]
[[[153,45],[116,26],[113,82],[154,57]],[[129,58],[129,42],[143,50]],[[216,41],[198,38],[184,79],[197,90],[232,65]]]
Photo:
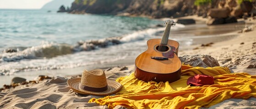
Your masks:
[[[212,58],[210,55],[184,55],[179,57],[183,64],[189,64],[191,66],[198,67],[216,67],[219,66],[218,61]]]

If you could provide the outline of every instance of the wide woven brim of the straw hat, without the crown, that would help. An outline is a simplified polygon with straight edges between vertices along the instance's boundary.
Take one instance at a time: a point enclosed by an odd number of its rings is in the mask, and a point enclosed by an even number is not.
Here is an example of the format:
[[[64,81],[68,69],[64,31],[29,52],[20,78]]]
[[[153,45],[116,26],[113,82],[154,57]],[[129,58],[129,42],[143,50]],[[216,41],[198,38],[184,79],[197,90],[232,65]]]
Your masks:
[[[92,94],[92,95],[99,95],[99,96],[107,96],[114,94],[118,92],[122,88],[122,84],[115,82],[113,80],[107,79],[108,83],[108,89],[103,92],[92,92],[92,91],[87,91],[79,88],[81,78],[72,78],[67,80],[67,84],[69,87],[75,91],[78,94]]]

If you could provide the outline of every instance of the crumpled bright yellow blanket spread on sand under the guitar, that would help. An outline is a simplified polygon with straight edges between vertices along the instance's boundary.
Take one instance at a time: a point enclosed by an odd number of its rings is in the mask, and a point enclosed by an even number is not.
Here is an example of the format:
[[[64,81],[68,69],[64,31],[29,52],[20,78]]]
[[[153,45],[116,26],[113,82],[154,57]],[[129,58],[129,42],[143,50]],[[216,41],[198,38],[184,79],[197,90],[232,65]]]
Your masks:
[[[210,107],[229,98],[248,99],[256,97],[256,76],[247,73],[230,74],[224,67],[190,67],[182,65],[181,78],[173,83],[144,82],[134,73],[117,79],[123,85],[114,96],[90,99],[100,105],[114,108],[123,105],[136,109],[198,109]],[[195,74],[214,77],[213,85],[190,86],[187,79]]]

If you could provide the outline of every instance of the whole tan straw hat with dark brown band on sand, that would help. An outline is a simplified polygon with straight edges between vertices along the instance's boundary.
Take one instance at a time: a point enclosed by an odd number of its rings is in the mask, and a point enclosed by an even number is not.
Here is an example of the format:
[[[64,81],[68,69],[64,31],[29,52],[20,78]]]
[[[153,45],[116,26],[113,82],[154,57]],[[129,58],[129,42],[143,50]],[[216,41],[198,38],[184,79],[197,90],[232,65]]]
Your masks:
[[[122,88],[122,85],[113,80],[106,79],[102,69],[83,70],[82,78],[67,80],[67,84],[78,94],[111,95]]]

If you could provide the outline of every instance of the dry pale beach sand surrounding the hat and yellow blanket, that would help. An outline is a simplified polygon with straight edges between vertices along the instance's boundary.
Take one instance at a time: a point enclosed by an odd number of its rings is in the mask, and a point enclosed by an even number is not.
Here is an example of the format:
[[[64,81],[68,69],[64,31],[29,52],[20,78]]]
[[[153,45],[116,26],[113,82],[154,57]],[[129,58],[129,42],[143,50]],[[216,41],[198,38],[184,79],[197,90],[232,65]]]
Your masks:
[[[187,16],[185,18],[193,18],[197,23],[202,23],[205,19],[196,16]],[[182,18],[181,18],[182,19]],[[209,62],[212,58],[218,61],[223,67],[228,67],[232,73],[248,73],[256,75],[256,20],[249,18],[248,20],[239,20],[252,25],[248,26],[248,31],[234,31],[237,36],[229,38],[224,37],[217,41],[212,39],[198,38],[197,40],[206,40],[205,43],[188,46],[179,50],[179,56],[194,57],[195,60],[183,60],[185,64],[191,66],[212,67]],[[234,24],[235,25],[235,24]],[[225,26],[225,25],[217,25]],[[210,26],[214,27],[214,26]],[[196,40],[194,40],[196,41]],[[202,41],[201,41],[202,42]],[[212,43],[211,43],[212,42]],[[202,55],[209,55],[212,58],[207,59]],[[202,61],[203,60],[203,61]],[[201,62],[202,64],[198,64]],[[88,103],[92,98],[103,98],[103,96],[82,95],[77,94],[69,88],[66,81],[71,77],[78,77],[82,74],[83,69],[105,69],[106,78],[115,80],[119,77],[130,75],[134,70],[134,59],[128,58],[118,62],[113,62],[102,66],[102,64],[94,64],[86,67],[78,67],[73,69],[56,69],[33,71],[33,75],[28,75],[33,80],[34,75],[49,75],[54,79],[44,79],[38,81],[38,84],[23,84],[15,88],[4,89],[0,91],[0,108],[3,109],[108,109],[107,105],[99,105],[96,103]],[[207,64],[208,63],[208,64]],[[114,65],[114,66],[113,66]],[[118,67],[119,66],[119,67]],[[124,67],[125,66],[125,67]],[[127,67],[127,68],[126,68]],[[22,74],[31,74],[29,72]],[[18,76],[18,75],[16,75]],[[57,77],[60,76],[60,77]],[[5,83],[13,78],[13,76],[2,79]],[[2,81],[1,80],[1,81]],[[115,109],[124,108],[116,106]],[[212,105],[208,109],[255,109],[256,98],[249,99],[227,99],[219,104]],[[207,109],[202,107],[202,109]]]

